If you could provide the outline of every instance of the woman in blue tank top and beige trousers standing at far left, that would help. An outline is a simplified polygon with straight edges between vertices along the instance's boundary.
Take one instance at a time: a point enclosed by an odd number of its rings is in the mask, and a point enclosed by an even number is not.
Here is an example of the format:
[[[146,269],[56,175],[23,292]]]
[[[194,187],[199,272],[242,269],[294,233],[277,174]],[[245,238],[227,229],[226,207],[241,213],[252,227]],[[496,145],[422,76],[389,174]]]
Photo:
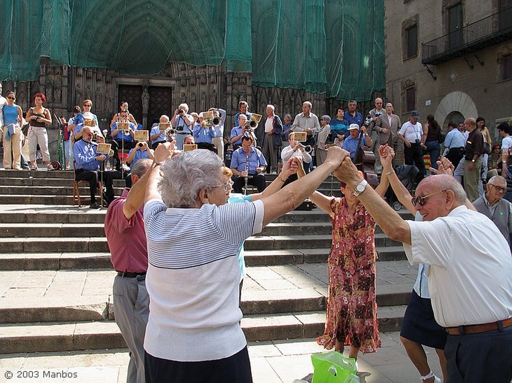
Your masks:
[[[23,110],[16,105],[14,92],[7,92],[7,104],[0,112],[3,114],[2,141],[4,143],[4,169],[21,170],[20,159],[22,155],[22,129]]]

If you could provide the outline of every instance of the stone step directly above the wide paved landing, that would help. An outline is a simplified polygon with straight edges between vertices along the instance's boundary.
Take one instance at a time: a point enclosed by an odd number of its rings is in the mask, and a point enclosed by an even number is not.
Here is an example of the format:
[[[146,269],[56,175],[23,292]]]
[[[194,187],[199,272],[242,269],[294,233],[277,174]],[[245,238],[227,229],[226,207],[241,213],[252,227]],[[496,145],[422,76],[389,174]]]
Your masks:
[[[379,261],[403,260],[403,246],[376,247]],[[329,248],[288,250],[247,250],[247,266],[274,266],[326,262]],[[110,268],[110,253],[0,253],[0,271],[15,270],[72,270]]]

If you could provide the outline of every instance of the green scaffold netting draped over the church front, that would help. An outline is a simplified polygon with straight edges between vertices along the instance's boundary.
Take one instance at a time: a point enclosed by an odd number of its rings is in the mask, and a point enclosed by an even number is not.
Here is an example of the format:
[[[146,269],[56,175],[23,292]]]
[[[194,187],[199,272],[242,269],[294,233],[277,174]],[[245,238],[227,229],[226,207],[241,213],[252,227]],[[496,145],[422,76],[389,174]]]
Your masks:
[[[166,62],[251,72],[252,84],[368,100],[385,87],[383,0],[24,0],[0,13],[0,78],[55,64],[159,73]]]

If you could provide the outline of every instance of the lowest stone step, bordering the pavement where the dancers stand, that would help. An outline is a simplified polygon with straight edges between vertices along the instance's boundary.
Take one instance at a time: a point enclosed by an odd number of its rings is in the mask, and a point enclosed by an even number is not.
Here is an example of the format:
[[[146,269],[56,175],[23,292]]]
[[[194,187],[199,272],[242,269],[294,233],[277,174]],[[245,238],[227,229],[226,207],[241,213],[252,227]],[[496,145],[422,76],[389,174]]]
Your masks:
[[[379,330],[399,330],[405,306],[384,309],[379,309]],[[324,321],[324,311],[247,316],[242,329],[248,342],[301,339],[322,335]],[[114,321],[0,325],[0,354],[125,347]]]

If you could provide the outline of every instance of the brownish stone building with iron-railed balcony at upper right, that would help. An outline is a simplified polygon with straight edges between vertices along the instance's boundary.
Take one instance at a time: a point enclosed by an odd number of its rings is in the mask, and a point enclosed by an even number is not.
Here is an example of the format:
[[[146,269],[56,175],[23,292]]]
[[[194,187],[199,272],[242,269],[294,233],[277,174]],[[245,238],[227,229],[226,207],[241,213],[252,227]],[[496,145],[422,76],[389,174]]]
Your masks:
[[[417,109],[446,129],[512,117],[512,1],[386,2],[386,94],[402,121]]]

